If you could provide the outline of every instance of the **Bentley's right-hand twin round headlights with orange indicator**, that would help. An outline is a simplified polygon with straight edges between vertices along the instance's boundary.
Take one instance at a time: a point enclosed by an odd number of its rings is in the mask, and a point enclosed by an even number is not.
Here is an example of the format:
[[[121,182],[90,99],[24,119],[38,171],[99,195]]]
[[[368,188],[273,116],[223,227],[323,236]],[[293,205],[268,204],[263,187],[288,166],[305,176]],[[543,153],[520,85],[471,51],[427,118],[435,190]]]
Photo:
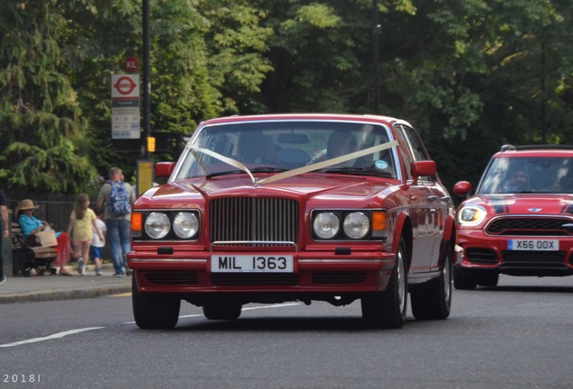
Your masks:
[[[370,240],[387,237],[384,211],[314,211],[314,240]]]

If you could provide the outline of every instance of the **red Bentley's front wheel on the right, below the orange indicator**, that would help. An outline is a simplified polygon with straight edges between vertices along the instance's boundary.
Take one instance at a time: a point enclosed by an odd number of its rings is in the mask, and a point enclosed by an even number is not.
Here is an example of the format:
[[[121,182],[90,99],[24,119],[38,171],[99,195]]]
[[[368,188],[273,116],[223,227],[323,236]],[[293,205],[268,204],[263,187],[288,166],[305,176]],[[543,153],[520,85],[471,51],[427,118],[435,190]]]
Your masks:
[[[396,265],[386,292],[368,294],[360,301],[362,318],[369,327],[399,329],[405,324],[408,284],[405,270],[406,246],[404,238],[396,253]]]

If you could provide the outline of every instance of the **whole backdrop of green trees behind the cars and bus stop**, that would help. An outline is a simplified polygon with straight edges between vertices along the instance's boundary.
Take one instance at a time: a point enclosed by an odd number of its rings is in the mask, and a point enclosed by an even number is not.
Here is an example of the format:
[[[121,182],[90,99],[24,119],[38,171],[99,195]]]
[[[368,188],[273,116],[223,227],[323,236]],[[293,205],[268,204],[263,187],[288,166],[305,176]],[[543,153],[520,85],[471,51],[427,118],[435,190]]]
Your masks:
[[[150,0],[151,131],[223,114],[412,122],[441,177],[504,142],[571,143],[571,0]],[[379,17],[375,85],[372,7]],[[0,184],[81,189],[139,151],[111,140],[111,75],[141,59],[141,0],[0,4]],[[154,158],[177,158],[172,149]]]

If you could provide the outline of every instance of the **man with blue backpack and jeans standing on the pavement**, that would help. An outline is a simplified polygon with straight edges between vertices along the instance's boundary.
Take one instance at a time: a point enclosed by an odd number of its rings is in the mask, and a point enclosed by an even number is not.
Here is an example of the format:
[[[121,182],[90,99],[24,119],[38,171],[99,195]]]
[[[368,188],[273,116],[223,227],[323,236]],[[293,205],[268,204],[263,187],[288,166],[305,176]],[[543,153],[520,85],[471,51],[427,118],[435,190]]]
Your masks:
[[[109,169],[107,181],[97,195],[97,208],[104,208],[107,242],[114,262],[114,276],[131,276],[127,267],[127,253],[130,252],[130,222],[135,194],[132,185],[123,182],[122,169]]]

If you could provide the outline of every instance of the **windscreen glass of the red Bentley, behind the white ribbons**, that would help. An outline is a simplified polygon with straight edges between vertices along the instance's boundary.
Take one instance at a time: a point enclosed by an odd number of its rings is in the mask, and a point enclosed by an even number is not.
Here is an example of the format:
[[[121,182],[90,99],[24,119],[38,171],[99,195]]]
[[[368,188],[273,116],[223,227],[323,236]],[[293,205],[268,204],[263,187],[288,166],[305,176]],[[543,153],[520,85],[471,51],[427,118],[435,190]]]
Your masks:
[[[368,149],[389,140],[382,125],[360,122],[240,122],[206,126],[193,145],[240,161],[250,171],[285,171],[305,167],[354,151]],[[396,177],[392,149],[354,158],[332,168],[361,169]],[[222,158],[194,149],[186,149],[177,179],[215,176],[236,171]]]

